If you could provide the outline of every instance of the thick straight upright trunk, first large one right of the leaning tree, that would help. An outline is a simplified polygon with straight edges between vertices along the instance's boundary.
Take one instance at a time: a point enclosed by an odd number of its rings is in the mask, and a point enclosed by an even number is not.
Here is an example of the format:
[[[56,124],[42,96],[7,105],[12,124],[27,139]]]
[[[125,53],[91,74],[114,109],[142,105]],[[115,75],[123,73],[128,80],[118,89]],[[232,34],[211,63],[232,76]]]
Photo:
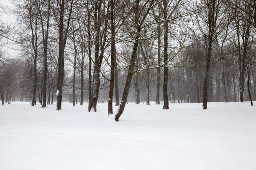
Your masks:
[[[167,20],[167,2],[163,1],[164,4],[164,83],[163,83],[163,97],[164,106],[163,109],[169,109],[168,100],[168,20]]]

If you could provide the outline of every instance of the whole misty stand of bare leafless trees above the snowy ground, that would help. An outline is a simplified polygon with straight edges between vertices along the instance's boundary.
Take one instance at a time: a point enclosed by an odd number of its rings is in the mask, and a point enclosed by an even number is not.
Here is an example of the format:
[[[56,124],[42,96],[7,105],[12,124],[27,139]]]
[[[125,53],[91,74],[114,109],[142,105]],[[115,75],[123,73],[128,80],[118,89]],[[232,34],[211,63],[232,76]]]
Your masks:
[[[0,22],[2,105],[256,100],[256,0],[12,0]],[[112,106],[119,105],[117,113]]]

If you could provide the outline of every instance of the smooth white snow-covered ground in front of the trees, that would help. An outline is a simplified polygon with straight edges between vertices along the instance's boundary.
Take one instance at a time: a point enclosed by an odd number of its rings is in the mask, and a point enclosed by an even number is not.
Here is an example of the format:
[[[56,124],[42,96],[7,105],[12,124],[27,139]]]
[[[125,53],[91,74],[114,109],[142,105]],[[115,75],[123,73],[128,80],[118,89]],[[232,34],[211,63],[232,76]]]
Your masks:
[[[107,103],[5,104],[0,170],[256,170],[256,106],[201,105],[129,103],[115,122]]]

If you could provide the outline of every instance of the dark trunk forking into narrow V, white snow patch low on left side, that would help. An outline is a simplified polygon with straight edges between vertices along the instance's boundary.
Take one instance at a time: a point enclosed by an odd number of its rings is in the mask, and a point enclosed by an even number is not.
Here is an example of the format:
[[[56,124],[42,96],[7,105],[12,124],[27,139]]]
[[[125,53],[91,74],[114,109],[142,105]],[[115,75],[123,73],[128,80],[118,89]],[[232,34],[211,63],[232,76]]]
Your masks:
[[[64,0],[61,0],[60,15],[59,15],[59,57],[58,57],[58,77],[57,77],[57,110],[61,110],[62,102],[62,87],[64,79],[64,50],[67,41],[67,34],[69,30],[70,17],[73,9],[73,0],[71,0],[69,17],[67,21],[67,28],[64,35]]]

